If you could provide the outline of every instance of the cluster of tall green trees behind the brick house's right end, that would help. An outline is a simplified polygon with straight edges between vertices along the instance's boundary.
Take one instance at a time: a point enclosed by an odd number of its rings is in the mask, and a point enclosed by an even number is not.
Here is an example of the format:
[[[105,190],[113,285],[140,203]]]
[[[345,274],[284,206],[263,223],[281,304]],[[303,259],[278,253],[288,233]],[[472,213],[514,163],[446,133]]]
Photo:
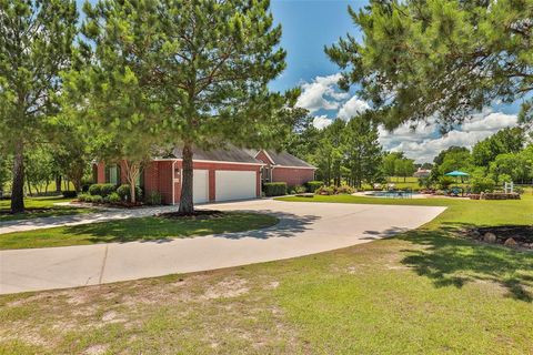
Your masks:
[[[312,118],[296,128],[284,149],[318,168],[316,179],[326,185],[384,183],[389,176],[412,176],[414,161],[403,153],[384,152],[378,125],[364,115],[313,126]]]

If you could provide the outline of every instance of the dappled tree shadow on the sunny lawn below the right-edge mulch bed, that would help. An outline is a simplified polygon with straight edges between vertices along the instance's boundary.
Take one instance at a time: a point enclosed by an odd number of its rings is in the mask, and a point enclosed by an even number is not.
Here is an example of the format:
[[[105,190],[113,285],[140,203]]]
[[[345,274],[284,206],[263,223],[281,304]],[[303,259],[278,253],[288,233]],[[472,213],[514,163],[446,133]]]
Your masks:
[[[533,301],[533,253],[489,245],[459,236],[470,224],[444,224],[438,230],[415,230],[395,239],[420,245],[402,250],[402,263],[436,287],[461,288],[469,282],[492,282],[514,300]]]

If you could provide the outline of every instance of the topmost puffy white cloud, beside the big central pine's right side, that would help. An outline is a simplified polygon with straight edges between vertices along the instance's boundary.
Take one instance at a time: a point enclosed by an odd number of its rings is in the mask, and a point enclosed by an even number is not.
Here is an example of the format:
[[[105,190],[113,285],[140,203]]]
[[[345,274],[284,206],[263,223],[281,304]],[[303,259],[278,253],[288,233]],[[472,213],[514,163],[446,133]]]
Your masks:
[[[339,92],[336,82],[341,79],[341,74],[328,77],[316,77],[312,82],[301,84],[302,94],[298,99],[296,105],[309,110],[311,113],[323,110],[336,110],[340,100],[348,98],[346,92]]]

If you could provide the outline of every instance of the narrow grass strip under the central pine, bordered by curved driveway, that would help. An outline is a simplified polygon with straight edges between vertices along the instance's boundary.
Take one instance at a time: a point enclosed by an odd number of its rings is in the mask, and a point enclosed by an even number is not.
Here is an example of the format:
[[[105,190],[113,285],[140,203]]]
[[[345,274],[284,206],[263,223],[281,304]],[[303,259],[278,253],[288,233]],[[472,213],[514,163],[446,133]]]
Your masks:
[[[242,232],[274,225],[259,213],[224,213],[209,220],[142,217],[0,234],[0,250],[153,241]]]

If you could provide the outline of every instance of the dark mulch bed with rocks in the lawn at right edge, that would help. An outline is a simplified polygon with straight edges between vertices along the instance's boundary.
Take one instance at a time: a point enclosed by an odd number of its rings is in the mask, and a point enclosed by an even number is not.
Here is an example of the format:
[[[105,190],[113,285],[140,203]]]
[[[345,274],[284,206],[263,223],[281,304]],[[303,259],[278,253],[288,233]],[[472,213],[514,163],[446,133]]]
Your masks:
[[[513,239],[520,247],[533,248],[533,225],[502,225],[473,229],[467,234],[479,241],[487,242],[486,234],[492,233],[496,236],[494,244],[505,244]],[[509,242],[507,242],[509,243]]]

